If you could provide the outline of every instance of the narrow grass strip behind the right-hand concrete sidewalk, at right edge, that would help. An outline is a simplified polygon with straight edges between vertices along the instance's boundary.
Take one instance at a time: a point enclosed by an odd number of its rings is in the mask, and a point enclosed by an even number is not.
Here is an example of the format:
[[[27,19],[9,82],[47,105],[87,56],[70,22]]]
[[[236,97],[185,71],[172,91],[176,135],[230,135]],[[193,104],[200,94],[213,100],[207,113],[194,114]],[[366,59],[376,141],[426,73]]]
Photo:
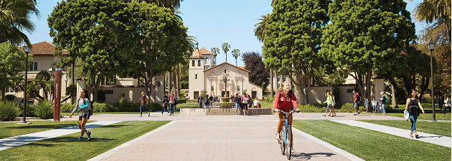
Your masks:
[[[380,124],[383,126],[391,126],[399,129],[406,130],[411,129],[411,122],[407,122],[405,120],[357,120],[357,121],[369,122],[372,124]],[[417,121],[416,131],[451,137],[451,122]]]

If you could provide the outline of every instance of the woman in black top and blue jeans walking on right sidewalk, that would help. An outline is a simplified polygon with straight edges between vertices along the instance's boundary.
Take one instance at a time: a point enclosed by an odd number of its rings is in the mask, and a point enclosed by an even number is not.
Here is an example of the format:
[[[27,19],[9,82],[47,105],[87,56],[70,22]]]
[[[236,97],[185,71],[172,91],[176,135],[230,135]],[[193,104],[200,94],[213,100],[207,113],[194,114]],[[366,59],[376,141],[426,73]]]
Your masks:
[[[417,116],[419,116],[419,108],[422,111],[422,114],[425,114],[424,108],[421,106],[421,102],[419,102],[419,99],[417,98],[417,93],[415,89],[411,90],[410,97],[406,100],[406,107],[405,111],[403,113],[410,113],[410,122],[411,122],[411,129],[410,129],[410,137],[413,138],[412,133],[415,133],[415,137],[418,138],[419,135],[417,135],[416,132],[416,122],[417,122]],[[382,94],[383,95],[383,94]]]

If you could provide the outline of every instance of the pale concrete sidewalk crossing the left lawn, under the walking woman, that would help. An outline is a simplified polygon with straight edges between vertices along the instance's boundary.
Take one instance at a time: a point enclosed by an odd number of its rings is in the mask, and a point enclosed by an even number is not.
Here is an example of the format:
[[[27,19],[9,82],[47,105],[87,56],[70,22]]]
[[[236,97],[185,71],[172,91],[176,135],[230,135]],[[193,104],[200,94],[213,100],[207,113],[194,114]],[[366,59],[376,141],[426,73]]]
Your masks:
[[[85,125],[85,129],[93,129],[100,126],[105,126],[109,124],[115,124],[122,121],[103,121],[103,122],[91,122]],[[46,140],[50,138],[59,137],[62,135],[67,135],[71,133],[80,133],[80,129],[78,129],[78,125],[64,127],[61,129],[53,129],[49,131],[41,131],[38,133],[28,133],[26,135],[19,135],[11,138],[3,138],[0,139],[0,151],[5,149],[10,149],[14,146],[21,146],[23,144],[28,144],[31,142],[37,142],[40,140]],[[76,138],[74,138],[76,139]]]

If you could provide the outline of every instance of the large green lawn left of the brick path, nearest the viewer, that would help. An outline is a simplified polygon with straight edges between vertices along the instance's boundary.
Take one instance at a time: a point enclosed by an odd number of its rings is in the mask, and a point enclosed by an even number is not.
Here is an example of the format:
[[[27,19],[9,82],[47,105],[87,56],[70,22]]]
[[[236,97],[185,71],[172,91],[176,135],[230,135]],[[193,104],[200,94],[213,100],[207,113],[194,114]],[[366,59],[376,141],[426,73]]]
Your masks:
[[[63,135],[0,151],[0,160],[89,160],[170,121],[127,121],[92,129],[91,140],[80,133]]]

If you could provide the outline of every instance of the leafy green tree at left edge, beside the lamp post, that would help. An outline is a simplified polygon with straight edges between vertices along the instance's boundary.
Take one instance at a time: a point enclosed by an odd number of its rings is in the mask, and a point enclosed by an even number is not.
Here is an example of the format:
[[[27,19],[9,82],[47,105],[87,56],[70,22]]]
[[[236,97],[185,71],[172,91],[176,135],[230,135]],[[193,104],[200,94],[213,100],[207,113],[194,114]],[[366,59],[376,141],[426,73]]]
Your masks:
[[[33,62],[33,55],[28,55],[28,64]],[[3,42],[0,44],[0,100],[5,100],[6,87],[13,88],[15,84],[24,82],[25,53],[23,50]]]

